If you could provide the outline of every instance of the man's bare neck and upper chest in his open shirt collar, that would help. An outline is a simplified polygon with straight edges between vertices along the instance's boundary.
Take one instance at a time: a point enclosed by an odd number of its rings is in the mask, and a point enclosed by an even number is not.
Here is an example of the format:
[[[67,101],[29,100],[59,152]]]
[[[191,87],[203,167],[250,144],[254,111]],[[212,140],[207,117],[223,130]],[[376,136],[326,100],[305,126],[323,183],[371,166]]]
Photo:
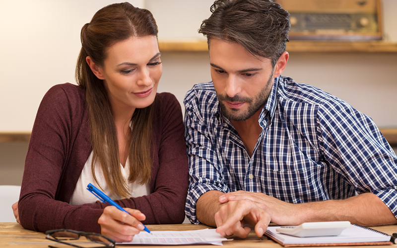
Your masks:
[[[260,108],[252,117],[242,122],[230,121],[240,135],[250,157],[252,156],[258,137],[262,131],[262,127],[258,122],[261,112],[262,108]]]

